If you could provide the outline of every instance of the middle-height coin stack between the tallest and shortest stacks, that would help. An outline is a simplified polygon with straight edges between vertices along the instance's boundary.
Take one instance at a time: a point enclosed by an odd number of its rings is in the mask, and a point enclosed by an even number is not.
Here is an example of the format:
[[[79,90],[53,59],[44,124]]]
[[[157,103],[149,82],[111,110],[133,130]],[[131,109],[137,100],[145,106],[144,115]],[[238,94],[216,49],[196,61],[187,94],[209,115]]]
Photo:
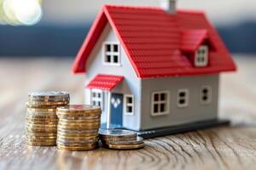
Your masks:
[[[95,150],[98,147],[101,114],[101,108],[92,105],[67,105],[57,108],[58,149]]]

